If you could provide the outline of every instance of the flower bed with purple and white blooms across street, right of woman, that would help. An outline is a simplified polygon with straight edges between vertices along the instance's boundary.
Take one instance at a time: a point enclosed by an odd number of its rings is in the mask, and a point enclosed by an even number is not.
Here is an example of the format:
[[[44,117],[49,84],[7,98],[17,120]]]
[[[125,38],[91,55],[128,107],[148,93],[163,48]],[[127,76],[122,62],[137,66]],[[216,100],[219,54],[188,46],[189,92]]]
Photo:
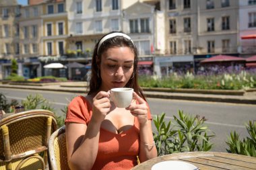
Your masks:
[[[166,87],[172,89],[250,89],[256,88],[256,75],[242,71],[239,74],[177,75],[173,73],[162,79],[156,76],[139,76],[141,87]]]

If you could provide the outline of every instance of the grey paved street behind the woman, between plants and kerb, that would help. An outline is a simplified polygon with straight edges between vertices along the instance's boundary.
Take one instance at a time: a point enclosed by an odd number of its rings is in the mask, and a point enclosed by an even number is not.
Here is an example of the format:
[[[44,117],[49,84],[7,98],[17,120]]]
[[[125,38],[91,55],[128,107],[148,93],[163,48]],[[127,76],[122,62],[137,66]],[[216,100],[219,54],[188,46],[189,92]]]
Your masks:
[[[36,91],[24,89],[5,89],[0,90],[8,99],[25,99],[29,94],[41,93],[46,99],[51,101],[59,115],[63,114],[61,109],[67,105],[68,100],[78,93],[65,93],[54,91]],[[205,116],[206,124],[215,132],[216,138],[212,151],[226,152],[225,140],[232,130],[236,130],[241,137],[247,136],[245,123],[255,120],[256,105],[214,103],[203,101],[184,101],[171,99],[153,99],[148,102],[153,115],[166,113],[166,121],[173,120],[173,115],[177,116],[178,110],[183,110],[187,114]],[[153,126],[154,127],[154,126]]]

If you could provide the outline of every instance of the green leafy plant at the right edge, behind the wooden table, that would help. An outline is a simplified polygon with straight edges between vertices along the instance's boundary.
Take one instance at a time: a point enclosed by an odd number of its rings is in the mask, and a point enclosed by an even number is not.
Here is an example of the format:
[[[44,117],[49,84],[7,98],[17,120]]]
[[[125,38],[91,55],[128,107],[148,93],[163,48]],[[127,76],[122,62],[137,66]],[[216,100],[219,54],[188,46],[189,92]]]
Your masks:
[[[226,149],[228,153],[256,157],[256,121],[249,121],[249,124],[246,124],[246,128],[250,138],[243,138],[243,140],[239,139],[236,131],[230,132],[230,136],[226,141],[229,147]]]

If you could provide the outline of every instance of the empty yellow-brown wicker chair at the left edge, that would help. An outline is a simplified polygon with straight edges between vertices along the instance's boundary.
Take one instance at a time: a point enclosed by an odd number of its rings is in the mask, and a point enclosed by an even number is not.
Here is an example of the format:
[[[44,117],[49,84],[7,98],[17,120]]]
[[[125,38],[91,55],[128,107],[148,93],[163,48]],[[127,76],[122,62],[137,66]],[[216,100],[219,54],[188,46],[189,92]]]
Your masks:
[[[0,170],[49,169],[47,146],[57,129],[53,112],[30,110],[0,121]]]

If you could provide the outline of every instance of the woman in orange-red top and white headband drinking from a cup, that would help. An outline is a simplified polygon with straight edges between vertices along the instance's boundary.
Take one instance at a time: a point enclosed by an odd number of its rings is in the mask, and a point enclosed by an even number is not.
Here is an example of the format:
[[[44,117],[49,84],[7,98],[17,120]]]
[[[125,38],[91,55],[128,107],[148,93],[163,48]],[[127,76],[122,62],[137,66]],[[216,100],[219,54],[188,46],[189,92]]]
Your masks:
[[[105,35],[95,46],[88,95],[75,97],[65,120],[70,169],[131,169],[157,156],[151,115],[137,83],[137,49],[121,32]],[[116,108],[109,90],[134,89],[134,102]]]

